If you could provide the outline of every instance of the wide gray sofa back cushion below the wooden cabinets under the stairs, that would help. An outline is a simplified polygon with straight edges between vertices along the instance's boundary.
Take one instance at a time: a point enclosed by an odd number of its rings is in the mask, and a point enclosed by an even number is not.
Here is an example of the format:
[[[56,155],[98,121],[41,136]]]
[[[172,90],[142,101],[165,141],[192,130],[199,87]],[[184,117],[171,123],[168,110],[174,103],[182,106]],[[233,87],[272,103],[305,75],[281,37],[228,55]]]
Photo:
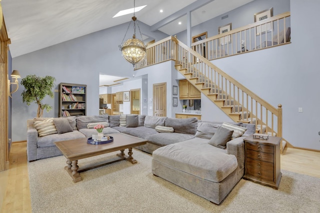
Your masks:
[[[196,118],[167,118],[164,125],[172,127],[174,132],[194,135],[198,126],[198,120]]]

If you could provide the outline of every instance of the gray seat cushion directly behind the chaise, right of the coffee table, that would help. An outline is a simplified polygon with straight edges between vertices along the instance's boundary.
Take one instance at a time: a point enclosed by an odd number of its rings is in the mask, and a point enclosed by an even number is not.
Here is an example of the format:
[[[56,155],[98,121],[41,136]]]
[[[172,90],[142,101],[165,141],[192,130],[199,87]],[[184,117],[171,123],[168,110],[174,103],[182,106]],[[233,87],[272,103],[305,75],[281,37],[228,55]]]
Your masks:
[[[166,146],[168,144],[174,144],[181,141],[186,141],[194,138],[194,135],[190,134],[182,134],[182,133],[157,133],[154,135],[150,135],[146,140],[151,144],[155,144],[157,146]]]

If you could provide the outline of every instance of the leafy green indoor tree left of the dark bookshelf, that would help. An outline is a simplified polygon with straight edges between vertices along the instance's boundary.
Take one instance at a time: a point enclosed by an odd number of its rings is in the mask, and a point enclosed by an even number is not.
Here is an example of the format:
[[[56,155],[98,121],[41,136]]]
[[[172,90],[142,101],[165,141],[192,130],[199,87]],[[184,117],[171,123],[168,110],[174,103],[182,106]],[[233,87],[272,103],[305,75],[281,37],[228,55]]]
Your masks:
[[[36,117],[42,117],[43,110],[49,112],[52,107],[48,104],[42,104],[41,101],[45,96],[53,98],[52,87],[54,86],[55,78],[52,76],[38,77],[36,75],[27,75],[22,78],[21,85],[25,90],[21,93],[22,101],[26,105],[34,102],[38,105]]]

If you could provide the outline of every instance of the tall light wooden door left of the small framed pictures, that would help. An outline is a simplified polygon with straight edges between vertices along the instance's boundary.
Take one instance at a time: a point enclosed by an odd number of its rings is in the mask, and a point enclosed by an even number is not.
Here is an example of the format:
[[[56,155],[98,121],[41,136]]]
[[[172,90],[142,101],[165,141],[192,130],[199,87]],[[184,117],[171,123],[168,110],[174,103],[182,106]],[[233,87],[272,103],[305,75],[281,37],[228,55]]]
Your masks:
[[[153,84],[153,116],[166,116],[166,83]]]

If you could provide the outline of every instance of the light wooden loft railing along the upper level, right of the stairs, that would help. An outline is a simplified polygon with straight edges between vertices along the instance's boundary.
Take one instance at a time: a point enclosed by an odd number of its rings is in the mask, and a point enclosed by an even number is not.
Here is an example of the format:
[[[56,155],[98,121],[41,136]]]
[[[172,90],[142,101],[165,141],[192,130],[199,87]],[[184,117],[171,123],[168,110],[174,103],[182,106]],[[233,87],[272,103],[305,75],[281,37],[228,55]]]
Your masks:
[[[208,60],[290,42],[290,12],[242,26],[191,44]]]

